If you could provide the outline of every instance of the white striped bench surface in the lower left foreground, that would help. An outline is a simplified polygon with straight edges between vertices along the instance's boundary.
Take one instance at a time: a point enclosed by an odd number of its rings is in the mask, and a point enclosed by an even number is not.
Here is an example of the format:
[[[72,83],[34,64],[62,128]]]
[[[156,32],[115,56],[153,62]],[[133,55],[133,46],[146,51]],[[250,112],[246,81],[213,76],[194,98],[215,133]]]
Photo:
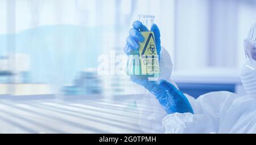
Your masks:
[[[142,133],[133,97],[102,98],[1,95],[0,133]]]

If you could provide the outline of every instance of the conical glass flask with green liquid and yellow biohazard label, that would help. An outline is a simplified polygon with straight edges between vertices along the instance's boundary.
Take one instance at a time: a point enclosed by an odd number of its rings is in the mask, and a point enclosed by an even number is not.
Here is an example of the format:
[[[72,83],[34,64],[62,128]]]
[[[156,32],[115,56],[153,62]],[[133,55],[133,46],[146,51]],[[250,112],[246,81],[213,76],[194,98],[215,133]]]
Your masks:
[[[137,75],[140,78],[158,78],[159,57],[155,45],[154,32],[150,31],[154,24],[155,16],[139,15],[139,21],[147,28],[139,29],[144,37],[144,42],[139,42],[140,48],[134,51],[127,61],[127,74]]]

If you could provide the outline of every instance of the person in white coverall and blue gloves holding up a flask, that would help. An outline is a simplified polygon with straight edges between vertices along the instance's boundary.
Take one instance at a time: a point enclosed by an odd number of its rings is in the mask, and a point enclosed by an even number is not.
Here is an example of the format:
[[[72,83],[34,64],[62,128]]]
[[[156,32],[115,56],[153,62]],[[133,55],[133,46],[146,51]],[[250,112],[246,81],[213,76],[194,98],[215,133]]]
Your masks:
[[[125,47],[126,54],[139,48],[144,27],[134,22]],[[241,80],[246,96],[220,91],[194,99],[183,95],[171,82],[172,62],[160,46],[160,32],[154,24],[156,49],[160,49],[160,77],[157,82],[131,76],[148,93],[137,101],[141,117],[139,125],[144,133],[256,133],[256,23],[244,40],[246,61]]]

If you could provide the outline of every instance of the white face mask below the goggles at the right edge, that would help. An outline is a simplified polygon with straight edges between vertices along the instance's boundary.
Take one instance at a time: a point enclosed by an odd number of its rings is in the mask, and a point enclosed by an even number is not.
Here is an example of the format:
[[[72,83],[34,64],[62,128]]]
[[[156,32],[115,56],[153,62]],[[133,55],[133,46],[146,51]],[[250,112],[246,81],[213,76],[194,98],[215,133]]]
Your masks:
[[[256,61],[246,59],[242,67],[241,81],[248,95],[256,96]]]

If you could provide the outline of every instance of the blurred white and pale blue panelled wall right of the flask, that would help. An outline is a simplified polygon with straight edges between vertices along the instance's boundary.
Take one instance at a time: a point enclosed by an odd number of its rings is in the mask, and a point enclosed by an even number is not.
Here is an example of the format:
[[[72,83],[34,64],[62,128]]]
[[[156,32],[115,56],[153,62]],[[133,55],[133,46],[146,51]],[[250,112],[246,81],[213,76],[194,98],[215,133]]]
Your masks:
[[[256,1],[175,1],[175,71],[236,70],[245,60],[243,39],[256,22]],[[224,72],[225,73],[225,72]]]

